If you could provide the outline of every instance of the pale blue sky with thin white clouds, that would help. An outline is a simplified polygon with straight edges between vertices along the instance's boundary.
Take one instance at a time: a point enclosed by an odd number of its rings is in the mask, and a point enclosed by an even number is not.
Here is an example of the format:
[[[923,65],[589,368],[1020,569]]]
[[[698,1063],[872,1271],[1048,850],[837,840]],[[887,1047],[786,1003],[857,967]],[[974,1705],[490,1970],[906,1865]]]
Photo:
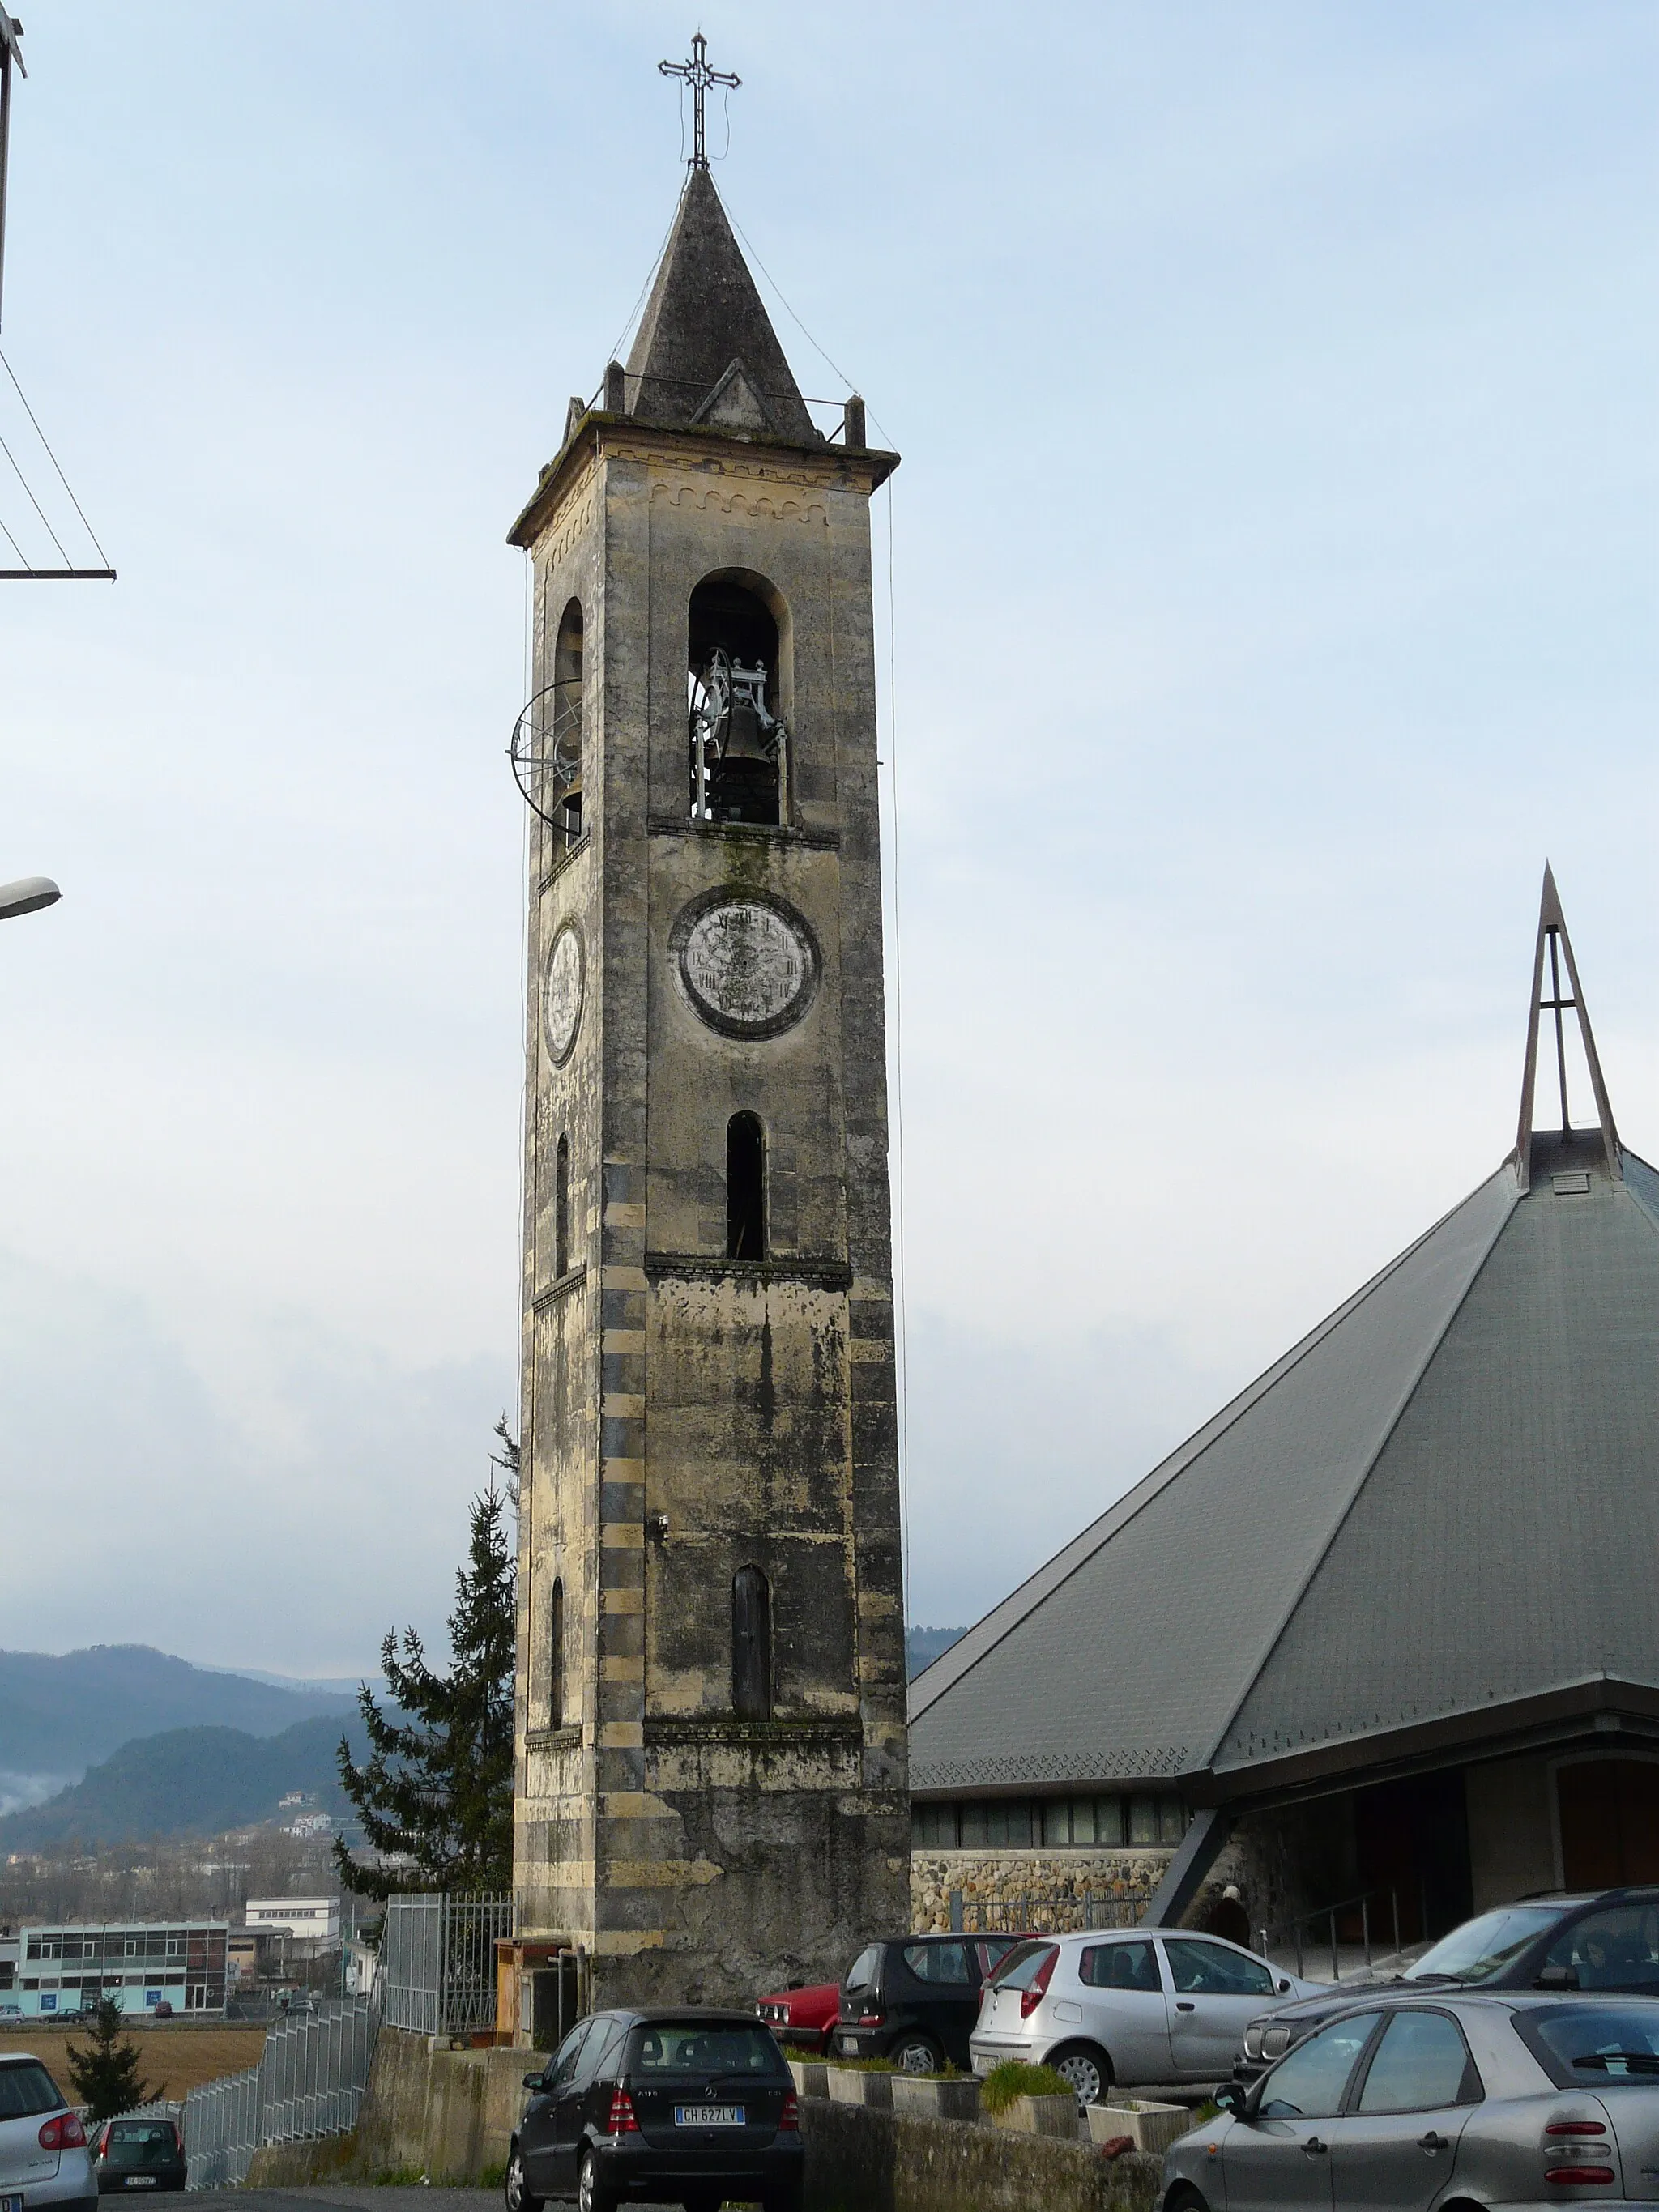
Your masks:
[[[24,24],[0,345],[119,582],[0,584],[0,878],[64,887],[0,929],[0,1641],[349,1674],[442,1639],[515,1418],[504,533],[697,22]],[[909,1617],[960,1624],[1498,1166],[1546,856],[1659,1152],[1659,13],[701,29],[796,374],[905,456]],[[2,374],[0,434],[91,557]],[[46,553],[2,456],[0,522]]]

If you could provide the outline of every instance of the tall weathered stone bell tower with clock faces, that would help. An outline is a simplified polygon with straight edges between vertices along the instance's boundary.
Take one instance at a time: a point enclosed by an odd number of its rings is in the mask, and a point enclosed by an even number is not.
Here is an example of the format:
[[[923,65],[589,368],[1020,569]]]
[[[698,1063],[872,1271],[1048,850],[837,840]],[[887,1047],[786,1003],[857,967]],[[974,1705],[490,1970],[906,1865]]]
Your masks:
[[[593,2004],[909,1927],[869,498],[708,168],[511,544],[520,1929]]]

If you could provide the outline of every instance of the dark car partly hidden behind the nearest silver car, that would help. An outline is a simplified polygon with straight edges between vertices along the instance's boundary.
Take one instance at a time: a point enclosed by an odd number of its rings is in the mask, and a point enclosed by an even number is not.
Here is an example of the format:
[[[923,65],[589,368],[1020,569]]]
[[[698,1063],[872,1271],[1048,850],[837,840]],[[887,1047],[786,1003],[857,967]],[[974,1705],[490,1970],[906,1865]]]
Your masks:
[[[1265,2068],[1369,1989],[1604,1989],[1659,1995],[1659,1887],[1522,1898],[1464,1920],[1387,1982],[1325,1986],[1248,2022],[1232,2079]]]

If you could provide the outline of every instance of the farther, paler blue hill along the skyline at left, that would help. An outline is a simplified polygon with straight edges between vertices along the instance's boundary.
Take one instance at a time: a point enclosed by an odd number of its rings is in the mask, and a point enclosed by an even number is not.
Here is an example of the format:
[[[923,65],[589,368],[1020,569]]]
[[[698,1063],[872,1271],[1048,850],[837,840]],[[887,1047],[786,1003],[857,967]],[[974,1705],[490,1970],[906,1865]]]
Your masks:
[[[173,1728],[232,1728],[274,1736],[312,1714],[354,1712],[338,1690],[276,1688],[190,1666],[148,1644],[0,1652],[0,1812],[31,1805],[97,1759]]]

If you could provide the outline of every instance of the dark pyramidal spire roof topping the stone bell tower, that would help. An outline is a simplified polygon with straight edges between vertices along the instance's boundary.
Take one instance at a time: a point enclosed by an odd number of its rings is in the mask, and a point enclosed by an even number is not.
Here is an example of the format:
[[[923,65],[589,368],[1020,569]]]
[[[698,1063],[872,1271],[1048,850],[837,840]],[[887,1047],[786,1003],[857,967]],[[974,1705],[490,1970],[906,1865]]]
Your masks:
[[[624,392],[646,422],[821,442],[706,168],[686,177]]]

